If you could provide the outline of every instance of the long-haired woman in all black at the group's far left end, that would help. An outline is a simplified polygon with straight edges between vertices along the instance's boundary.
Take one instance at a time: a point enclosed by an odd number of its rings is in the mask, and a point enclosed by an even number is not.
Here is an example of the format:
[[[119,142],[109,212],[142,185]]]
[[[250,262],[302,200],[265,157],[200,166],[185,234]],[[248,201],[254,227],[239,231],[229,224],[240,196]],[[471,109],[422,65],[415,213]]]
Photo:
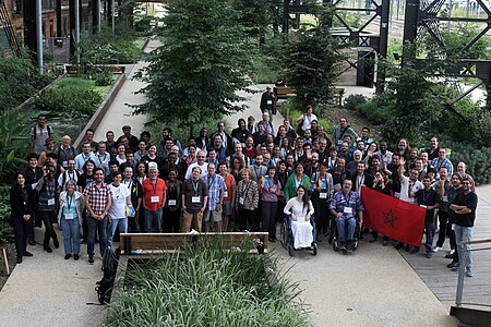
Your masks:
[[[27,252],[27,233],[36,210],[35,194],[31,185],[26,185],[23,172],[17,173],[15,184],[10,189],[10,207],[17,264],[21,264],[23,256],[33,256]]]

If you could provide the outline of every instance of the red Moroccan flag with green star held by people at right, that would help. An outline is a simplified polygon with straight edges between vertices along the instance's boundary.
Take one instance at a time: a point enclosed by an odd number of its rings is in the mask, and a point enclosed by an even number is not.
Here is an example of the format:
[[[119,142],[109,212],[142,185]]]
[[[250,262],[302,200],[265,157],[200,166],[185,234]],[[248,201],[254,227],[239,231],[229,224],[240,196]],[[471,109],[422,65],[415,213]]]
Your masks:
[[[421,246],[426,210],[417,205],[361,187],[363,226],[396,241]]]

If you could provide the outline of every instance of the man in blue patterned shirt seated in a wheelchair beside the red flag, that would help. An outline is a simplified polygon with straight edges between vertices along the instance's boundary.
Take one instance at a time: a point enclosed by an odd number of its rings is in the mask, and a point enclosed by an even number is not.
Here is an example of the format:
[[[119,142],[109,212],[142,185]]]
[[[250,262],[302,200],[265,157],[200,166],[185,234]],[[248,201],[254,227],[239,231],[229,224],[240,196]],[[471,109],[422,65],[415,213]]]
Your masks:
[[[352,181],[345,180],[343,189],[334,194],[330,206],[336,220],[339,249],[344,252],[352,252],[354,250],[357,215],[360,219],[360,226],[363,223],[364,207],[358,192],[351,192],[351,186]],[[348,225],[348,233],[346,233],[346,225]]]

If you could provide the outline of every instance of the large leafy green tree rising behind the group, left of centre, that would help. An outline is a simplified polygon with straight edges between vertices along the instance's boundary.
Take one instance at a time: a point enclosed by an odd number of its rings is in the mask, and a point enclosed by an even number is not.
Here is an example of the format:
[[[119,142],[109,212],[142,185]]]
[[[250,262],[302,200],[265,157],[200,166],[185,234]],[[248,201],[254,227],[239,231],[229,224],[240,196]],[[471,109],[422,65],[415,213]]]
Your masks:
[[[251,84],[254,47],[238,24],[240,14],[223,0],[175,0],[164,19],[163,46],[137,74],[148,85],[136,113],[179,126],[202,124],[246,108],[237,90]]]

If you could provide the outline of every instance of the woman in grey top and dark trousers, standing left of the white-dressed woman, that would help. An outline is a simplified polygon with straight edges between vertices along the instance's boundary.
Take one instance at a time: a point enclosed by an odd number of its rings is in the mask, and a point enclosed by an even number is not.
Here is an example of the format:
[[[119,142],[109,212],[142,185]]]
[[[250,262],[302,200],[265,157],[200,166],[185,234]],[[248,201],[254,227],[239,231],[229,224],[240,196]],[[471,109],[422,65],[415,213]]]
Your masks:
[[[261,218],[263,231],[270,233],[270,242],[276,241],[276,210],[282,184],[276,178],[276,167],[267,168],[261,183]]]

